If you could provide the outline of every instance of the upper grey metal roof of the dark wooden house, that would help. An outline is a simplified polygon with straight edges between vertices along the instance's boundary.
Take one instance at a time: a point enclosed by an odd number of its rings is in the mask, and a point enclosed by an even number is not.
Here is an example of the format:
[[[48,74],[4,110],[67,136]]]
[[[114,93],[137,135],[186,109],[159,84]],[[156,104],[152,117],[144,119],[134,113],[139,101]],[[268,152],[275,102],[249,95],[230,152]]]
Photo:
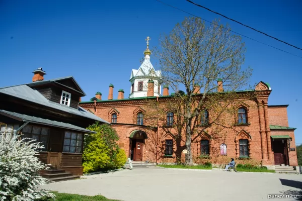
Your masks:
[[[93,120],[96,120],[99,122],[109,124],[105,120],[99,118],[98,116],[88,112],[87,110],[85,110],[81,107],[79,107],[78,109],[74,109],[74,108],[71,108],[71,107],[68,107],[65,105],[61,105],[61,104],[52,102],[52,101],[48,100],[46,97],[44,97],[39,91],[37,91],[34,88],[29,87],[26,84],[6,87],[6,88],[0,88],[0,93],[11,95],[16,98],[27,100],[27,101],[35,103],[35,104],[39,104],[42,106],[60,110],[60,111],[70,113],[73,115],[78,115],[81,117],[86,117],[89,119],[93,119]]]

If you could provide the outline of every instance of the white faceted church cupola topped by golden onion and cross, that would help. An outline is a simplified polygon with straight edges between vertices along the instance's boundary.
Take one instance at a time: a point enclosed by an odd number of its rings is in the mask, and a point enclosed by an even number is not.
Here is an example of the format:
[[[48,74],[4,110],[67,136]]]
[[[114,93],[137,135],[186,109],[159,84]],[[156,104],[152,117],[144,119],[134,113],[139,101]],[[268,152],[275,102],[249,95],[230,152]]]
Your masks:
[[[131,82],[129,98],[161,96],[162,73],[160,70],[155,70],[150,62],[149,40],[151,40],[150,37],[145,39],[147,41],[147,49],[143,51],[144,61],[138,70],[132,69],[129,80]],[[151,83],[149,80],[153,82]]]

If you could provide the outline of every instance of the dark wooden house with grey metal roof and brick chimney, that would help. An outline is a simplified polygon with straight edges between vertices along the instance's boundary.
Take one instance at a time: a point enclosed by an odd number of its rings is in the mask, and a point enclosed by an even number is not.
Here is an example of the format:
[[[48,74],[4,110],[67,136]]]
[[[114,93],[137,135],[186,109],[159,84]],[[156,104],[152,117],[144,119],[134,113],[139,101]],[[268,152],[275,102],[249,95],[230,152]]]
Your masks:
[[[42,172],[45,177],[78,177],[84,135],[94,133],[86,128],[107,122],[79,106],[86,94],[72,76],[44,80],[42,68],[33,73],[31,83],[0,88],[1,131],[13,130],[44,145],[39,158],[52,167]]]

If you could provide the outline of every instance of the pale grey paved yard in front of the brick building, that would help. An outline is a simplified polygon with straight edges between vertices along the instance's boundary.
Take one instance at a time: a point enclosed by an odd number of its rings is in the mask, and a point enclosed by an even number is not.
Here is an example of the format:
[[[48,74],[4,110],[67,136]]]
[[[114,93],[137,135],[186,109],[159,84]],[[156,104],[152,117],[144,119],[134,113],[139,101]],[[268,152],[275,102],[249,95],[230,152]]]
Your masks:
[[[51,183],[43,188],[83,195],[102,194],[124,201],[257,201],[267,200],[268,194],[299,193],[302,175],[140,167]]]

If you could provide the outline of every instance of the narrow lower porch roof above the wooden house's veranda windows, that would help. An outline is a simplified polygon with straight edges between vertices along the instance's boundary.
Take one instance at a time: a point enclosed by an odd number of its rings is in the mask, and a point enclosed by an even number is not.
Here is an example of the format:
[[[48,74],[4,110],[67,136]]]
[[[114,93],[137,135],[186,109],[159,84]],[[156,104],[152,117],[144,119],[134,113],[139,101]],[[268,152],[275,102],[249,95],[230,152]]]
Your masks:
[[[33,117],[33,116],[24,115],[24,114],[20,114],[20,113],[14,113],[14,112],[5,111],[5,110],[0,110],[0,115],[4,115],[4,116],[7,116],[9,118],[12,118],[12,119],[15,119],[15,120],[18,120],[18,121],[22,121],[22,122],[42,124],[42,125],[46,125],[46,126],[53,126],[53,127],[58,127],[58,128],[70,129],[70,130],[73,130],[73,131],[80,131],[80,132],[85,132],[85,133],[96,133],[94,131],[90,131],[88,129],[84,129],[84,128],[81,128],[79,126],[75,126],[75,125],[72,125],[72,124],[52,121],[52,120],[48,120],[48,119],[42,119],[42,118],[39,118],[39,117]]]

